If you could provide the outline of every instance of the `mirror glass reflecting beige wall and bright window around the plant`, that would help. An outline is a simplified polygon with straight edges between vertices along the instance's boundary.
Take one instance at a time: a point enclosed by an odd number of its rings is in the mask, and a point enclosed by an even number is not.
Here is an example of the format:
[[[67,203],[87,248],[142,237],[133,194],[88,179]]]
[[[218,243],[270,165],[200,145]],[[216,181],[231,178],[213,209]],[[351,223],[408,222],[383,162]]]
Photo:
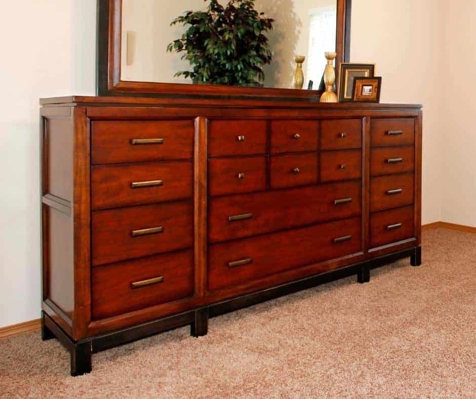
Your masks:
[[[129,82],[191,83],[174,77],[191,70],[183,53],[167,53],[167,45],[181,37],[182,25],[170,23],[185,11],[205,10],[204,0],[123,0],[121,80]],[[226,5],[221,0],[220,4]],[[326,66],[326,51],[336,51],[337,0],[257,0],[255,8],[274,19],[265,34],[273,53],[264,66],[263,85],[292,88],[295,55],[303,55],[304,88],[309,80],[319,88]]]

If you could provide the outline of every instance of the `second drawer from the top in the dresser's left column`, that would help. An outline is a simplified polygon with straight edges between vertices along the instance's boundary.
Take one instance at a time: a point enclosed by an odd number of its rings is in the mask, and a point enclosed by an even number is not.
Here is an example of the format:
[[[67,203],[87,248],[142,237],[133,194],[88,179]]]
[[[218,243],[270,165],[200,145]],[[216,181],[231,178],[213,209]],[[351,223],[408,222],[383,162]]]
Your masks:
[[[191,162],[93,166],[93,210],[185,199],[193,192]]]

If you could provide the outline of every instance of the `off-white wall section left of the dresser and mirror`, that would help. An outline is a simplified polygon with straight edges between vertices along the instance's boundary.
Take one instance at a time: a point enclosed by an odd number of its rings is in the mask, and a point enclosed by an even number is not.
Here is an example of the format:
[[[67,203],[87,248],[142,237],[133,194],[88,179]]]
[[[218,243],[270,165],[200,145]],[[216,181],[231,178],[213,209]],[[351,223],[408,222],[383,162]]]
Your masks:
[[[0,327],[40,311],[40,97],[95,92],[96,0],[2,2]]]

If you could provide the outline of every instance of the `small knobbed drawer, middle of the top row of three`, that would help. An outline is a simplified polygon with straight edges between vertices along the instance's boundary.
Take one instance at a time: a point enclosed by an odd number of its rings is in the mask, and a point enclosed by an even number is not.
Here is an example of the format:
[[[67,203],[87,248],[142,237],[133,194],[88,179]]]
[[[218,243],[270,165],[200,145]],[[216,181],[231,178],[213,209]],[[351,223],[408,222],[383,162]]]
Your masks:
[[[271,122],[271,153],[318,150],[318,121]]]

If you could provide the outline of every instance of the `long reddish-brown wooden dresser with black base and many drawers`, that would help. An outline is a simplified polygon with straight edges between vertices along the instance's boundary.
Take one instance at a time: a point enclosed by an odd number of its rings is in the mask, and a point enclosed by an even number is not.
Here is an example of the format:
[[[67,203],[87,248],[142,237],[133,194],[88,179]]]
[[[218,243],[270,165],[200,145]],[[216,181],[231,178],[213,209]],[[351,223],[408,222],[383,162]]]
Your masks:
[[[411,257],[421,107],[41,101],[43,338],[91,353]]]

